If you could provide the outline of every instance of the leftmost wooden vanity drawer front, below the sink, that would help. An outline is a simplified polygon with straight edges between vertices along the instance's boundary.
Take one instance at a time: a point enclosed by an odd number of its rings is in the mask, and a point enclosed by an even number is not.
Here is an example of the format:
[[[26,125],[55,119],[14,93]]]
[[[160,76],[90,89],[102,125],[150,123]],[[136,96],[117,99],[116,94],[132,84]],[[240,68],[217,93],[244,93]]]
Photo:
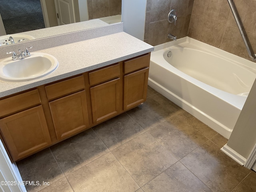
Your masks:
[[[0,100],[0,117],[13,112],[40,104],[38,90],[28,91],[6,99]]]

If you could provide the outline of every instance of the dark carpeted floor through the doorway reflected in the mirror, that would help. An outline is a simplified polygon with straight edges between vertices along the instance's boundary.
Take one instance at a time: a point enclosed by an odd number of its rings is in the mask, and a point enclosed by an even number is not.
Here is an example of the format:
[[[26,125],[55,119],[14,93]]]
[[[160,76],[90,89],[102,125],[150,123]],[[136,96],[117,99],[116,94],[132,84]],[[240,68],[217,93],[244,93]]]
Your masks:
[[[1,0],[0,13],[6,34],[45,28],[40,0]]]

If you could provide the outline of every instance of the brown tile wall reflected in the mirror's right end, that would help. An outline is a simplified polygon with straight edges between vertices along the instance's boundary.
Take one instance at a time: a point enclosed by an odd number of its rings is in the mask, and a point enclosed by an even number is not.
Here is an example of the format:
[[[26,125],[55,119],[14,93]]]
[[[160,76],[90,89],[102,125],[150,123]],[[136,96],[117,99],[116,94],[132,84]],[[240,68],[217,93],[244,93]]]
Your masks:
[[[89,19],[121,14],[122,0],[87,0]]]

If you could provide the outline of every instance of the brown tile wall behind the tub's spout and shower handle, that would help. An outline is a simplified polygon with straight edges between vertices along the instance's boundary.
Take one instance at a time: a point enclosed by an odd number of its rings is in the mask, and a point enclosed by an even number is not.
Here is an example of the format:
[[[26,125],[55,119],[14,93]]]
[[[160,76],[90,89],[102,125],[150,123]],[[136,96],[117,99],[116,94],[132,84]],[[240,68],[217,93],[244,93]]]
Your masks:
[[[177,38],[188,36],[193,0],[147,0],[144,41],[156,46],[170,41],[171,33]],[[167,20],[170,10],[177,11],[177,23]]]

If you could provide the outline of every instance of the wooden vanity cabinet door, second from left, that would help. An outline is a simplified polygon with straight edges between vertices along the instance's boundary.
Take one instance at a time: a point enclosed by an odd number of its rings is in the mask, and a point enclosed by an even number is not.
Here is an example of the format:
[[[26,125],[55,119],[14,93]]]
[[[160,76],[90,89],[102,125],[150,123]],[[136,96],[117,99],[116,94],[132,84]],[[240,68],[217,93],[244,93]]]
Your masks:
[[[49,102],[58,140],[62,140],[89,126],[85,91]]]

